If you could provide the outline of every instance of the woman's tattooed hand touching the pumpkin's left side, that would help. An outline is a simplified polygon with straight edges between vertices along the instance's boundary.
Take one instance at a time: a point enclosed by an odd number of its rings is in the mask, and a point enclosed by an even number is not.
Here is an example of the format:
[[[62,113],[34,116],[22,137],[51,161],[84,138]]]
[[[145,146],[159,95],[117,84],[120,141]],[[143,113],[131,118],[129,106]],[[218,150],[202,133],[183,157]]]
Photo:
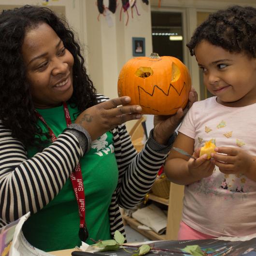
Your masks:
[[[116,126],[142,117],[141,106],[126,106],[130,101],[130,97],[124,96],[101,102],[82,112],[76,118],[75,123],[81,125],[88,131],[92,141],[96,140],[102,134],[114,129]]]

